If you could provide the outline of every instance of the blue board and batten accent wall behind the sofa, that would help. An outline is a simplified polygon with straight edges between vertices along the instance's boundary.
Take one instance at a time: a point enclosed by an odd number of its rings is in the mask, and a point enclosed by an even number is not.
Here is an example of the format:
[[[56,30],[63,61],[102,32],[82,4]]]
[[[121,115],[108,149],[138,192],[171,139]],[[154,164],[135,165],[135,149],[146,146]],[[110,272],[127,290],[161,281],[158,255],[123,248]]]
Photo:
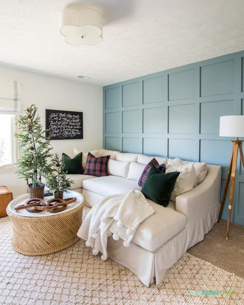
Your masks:
[[[232,143],[219,136],[219,118],[243,115],[243,102],[244,51],[109,85],[103,88],[103,147],[221,165],[223,192]],[[227,211],[228,200],[223,219]],[[231,221],[244,225],[239,160]]]

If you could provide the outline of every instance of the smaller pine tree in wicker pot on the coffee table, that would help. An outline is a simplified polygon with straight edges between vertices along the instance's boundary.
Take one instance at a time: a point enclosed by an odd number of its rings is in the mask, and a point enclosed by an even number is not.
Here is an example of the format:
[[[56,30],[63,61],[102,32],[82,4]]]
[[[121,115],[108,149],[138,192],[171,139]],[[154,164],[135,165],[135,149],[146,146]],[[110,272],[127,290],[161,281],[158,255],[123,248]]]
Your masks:
[[[54,192],[54,198],[63,199],[63,193],[70,190],[70,186],[74,180],[66,177],[66,172],[61,170],[61,160],[59,160],[59,155],[54,154],[51,160],[52,163],[52,173],[46,176],[46,186]]]

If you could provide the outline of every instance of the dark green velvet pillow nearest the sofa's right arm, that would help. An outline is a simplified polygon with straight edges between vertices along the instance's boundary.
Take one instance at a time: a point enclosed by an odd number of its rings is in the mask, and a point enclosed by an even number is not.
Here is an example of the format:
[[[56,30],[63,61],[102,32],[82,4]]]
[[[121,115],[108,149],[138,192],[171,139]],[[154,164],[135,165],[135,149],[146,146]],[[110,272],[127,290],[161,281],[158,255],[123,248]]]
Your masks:
[[[179,174],[180,172],[162,174],[162,172],[152,164],[141,192],[146,198],[155,201],[161,206],[167,206]]]

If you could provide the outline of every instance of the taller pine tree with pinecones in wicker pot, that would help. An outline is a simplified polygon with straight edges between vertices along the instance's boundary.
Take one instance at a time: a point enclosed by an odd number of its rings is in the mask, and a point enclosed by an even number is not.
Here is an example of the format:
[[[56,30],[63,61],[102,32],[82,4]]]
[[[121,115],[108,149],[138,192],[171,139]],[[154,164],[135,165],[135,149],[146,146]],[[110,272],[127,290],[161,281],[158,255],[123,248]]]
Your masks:
[[[45,184],[42,177],[52,172],[52,164],[48,163],[52,158],[50,138],[45,137],[46,130],[42,131],[38,108],[32,104],[25,111],[24,116],[19,116],[17,123],[18,132],[15,137],[19,140],[18,148],[20,158],[15,164],[18,178],[27,180],[29,198],[43,198]],[[28,184],[28,180],[32,183]]]

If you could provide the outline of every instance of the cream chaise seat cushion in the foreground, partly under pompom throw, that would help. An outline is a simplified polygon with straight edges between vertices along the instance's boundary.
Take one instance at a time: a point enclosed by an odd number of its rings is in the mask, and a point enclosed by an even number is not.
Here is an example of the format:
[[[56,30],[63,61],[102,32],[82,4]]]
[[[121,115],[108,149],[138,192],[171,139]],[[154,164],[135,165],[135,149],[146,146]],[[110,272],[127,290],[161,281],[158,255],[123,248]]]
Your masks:
[[[139,224],[131,242],[154,252],[185,228],[186,217],[176,212],[173,204],[163,207],[150,199],[147,201],[155,213]]]

